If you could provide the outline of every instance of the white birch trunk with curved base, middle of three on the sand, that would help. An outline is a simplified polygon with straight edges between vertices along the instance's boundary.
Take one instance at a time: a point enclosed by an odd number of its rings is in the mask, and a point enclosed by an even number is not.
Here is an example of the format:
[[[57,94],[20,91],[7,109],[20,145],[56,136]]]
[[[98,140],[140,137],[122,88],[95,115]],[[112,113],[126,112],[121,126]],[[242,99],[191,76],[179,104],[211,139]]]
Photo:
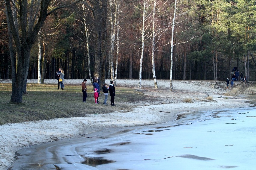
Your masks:
[[[153,8],[153,15],[152,15],[152,53],[151,53],[151,62],[152,62],[152,74],[154,79],[155,88],[158,89],[157,85],[157,78],[155,74],[155,13],[156,13],[156,3],[157,1],[154,0],[154,8]]]

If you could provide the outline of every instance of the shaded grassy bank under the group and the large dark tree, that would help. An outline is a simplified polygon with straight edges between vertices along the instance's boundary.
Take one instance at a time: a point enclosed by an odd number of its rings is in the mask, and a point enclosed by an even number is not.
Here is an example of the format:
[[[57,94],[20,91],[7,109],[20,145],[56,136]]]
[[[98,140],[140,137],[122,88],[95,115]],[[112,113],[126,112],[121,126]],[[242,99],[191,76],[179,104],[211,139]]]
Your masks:
[[[146,100],[142,92],[116,87],[116,106],[110,105],[109,95],[108,106],[104,106],[103,93],[99,96],[99,104],[94,103],[93,88],[90,85],[87,86],[87,103],[83,103],[81,86],[66,84],[65,90],[57,90],[56,84],[27,84],[23,102],[12,104],[11,89],[11,84],[0,84],[0,125],[128,110],[132,107],[130,103]]]

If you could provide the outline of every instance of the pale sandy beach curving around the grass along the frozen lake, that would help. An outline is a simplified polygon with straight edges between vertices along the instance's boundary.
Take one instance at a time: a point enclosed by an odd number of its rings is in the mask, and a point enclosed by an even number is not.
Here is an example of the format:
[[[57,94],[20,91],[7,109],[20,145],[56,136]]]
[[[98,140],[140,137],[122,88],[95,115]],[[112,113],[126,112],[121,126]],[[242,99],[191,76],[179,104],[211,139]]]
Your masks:
[[[0,80],[0,83],[10,83]],[[82,80],[65,80],[65,84],[79,84]],[[106,80],[109,82],[109,80]],[[0,169],[7,169],[15,160],[15,152],[23,147],[44,142],[54,142],[83,134],[90,134],[103,128],[152,125],[164,123],[197,110],[214,110],[224,108],[248,107],[245,98],[227,97],[224,92],[225,82],[181,81],[174,80],[174,92],[171,92],[169,80],[158,80],[159,89],[154,88],[153,80],[142,80],[142,88],[138,89],[138,80],[117,80],[118,87],[130,87],[151,96],[147,102],[131,103],[129,111],[110,112],[106,114],[85,114],[84,117],[23,122],[0,126]],[[37,80],[28,80],[37,83]],[[55,84],[56,80],[44,80],[45,84]],[[66,86],[65,86],[66,89]],[[213,100],[207,100],[212,96]],[[191,98],[192,103],[183,102]],[[115,102],[118,105],[118,101]]]

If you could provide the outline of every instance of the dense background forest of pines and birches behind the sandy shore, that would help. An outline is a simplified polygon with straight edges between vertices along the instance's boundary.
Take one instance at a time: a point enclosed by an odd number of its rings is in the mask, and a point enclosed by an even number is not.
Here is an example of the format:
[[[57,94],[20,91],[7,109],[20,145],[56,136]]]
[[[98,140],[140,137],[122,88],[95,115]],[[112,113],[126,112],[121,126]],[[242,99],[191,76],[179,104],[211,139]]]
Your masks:
[[[43,0],[1,0],[1,79],[11,79],[12,69],[19,72],[11,63],[18,62],[20,51],[19,40],[9,36],[14,32],[8,29],[8,2],[21,42],[22,34],[29,36],[36,27]],[[230,78],[237,67],[256,80],[255,0],[47,3],[47,17],[29,51],[28,79],[43,83],[62,68],[65,79],[139,79],[141,72],[142,79],[170,79],[172,73],[172,79],[217,81]],[[26,25],[21,23],[24,4]]]

